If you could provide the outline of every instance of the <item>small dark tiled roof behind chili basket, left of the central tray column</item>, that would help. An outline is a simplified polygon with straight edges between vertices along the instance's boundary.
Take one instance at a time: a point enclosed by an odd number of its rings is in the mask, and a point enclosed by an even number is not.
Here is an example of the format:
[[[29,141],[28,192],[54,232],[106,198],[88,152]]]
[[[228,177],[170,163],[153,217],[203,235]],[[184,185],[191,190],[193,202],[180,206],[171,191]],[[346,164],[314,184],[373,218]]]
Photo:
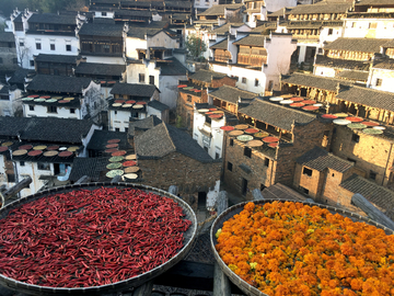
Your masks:
[[[107,158],[76,157],[72,161],[72,170],[69,180],[71,182],[77,182],[83,175],[88,175],[92,182],[101,181],[100,177],[103,171],[106,171],[106,164],[108,164]]]

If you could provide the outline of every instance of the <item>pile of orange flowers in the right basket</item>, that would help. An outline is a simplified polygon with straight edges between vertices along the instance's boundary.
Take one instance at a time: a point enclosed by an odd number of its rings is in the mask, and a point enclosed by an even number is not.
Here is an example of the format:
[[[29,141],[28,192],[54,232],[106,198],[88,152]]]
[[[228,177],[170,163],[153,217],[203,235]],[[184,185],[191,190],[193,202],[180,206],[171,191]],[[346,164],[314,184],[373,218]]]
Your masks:
[[[394,295],[394,236],[318,206],[248,203],[217,232],[223,262],[270,295]]]

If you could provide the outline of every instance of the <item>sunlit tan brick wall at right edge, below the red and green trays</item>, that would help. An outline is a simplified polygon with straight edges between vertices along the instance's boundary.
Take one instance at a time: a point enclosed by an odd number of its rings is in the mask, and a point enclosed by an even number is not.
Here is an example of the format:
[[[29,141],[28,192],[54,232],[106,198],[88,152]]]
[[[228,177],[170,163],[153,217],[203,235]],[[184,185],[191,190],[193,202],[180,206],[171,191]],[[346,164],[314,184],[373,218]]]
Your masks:
[[[363,170],[366,178],[370,178],[371,171],[375,172],[376,184],[387,185],[390,168],[394,162],[392,140],[338,126],[333,138],[332,151],[343,159],[356,161],[355,167]]]

